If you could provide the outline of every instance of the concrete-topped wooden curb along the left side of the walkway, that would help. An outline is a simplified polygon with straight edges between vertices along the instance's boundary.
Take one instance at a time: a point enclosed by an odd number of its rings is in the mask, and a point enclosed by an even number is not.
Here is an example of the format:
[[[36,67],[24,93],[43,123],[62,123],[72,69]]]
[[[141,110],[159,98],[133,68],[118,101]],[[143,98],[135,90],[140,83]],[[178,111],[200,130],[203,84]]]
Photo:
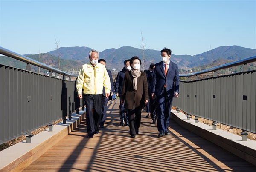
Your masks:
[[[85,111],[72,114],[72,120],[66,120],[53,126],[53,131],[44,130],[31,138],[31,143],[26,140],[17,143],[0,152],[0,171],[12,172],[22,171],[59,140],[72,132],[85,118]]]

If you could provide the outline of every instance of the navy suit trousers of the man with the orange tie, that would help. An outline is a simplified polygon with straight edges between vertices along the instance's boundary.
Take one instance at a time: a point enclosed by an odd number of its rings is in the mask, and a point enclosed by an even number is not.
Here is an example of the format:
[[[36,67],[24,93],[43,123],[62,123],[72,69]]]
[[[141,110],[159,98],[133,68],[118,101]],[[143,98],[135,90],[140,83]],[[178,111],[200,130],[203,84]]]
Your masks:
[[[168,131],[173,97],[167,97],[166,88],[163,89],[161,95],[157,96],[157,129],[159,133]]]

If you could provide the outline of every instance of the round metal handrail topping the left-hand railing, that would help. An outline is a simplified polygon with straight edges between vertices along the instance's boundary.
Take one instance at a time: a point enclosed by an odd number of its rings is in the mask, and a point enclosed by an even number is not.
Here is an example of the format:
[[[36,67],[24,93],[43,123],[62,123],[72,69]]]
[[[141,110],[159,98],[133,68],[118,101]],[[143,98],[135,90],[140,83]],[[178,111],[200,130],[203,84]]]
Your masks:
[[[58,69],[55,69],[51,66],[48,66],[44,63],[40,63],[36,60],[33,60],[29,57],[26,57],[26,56],[23,56],[23,55],[20,55],[20,54],[17,54],[15,52],[12,52],[8,49],[5,49],[3,47],[0,46],[0,54],[3,54],[5,56],[8,56],[8,57],[11,57],[11,58],[14,58],[16,60],[20,60],[20,61],[23,61],[25,63],[29,63],[29,64],[32,64],[34,66],[37,66],[37,67],[40,67],[42,69],[46,69],[46,70],[49,70],[51,72],[55,72],[55,73],[58,73],[58,74],[61,74],[61,75],[64,75],[64,76],[67,76],[67,77],[77,77],[78,75],[72,75],[72,74],[68,74],[68,73],[65,73],[63,71],[60,71]]]

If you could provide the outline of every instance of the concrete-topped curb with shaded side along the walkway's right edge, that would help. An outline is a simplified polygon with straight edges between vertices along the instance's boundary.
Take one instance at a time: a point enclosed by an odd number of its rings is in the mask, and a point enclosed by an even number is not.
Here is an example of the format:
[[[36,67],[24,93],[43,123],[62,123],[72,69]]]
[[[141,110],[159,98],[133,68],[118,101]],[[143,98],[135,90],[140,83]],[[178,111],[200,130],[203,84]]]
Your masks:
[[[170,118],[175,120],[183,128],[256,165],[255,140],[247,139],[247,141],[243,141],[242,136],[221,129],[213,130],[212,126],[199,122],[195,123],[191,118],[187,119],[186,115],[181,112],[177,113],[176,110],[172,110],[171,112]]]

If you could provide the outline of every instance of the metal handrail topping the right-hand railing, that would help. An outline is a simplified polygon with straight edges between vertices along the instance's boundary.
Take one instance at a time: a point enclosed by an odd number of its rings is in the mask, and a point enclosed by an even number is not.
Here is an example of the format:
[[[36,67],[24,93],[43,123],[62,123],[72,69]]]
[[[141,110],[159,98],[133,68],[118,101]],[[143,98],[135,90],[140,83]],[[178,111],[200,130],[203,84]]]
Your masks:
[[[252,63],[252,62],[255,62],[255,61],[256,61],[256,56],[248,57],[248,58],[245,58],[245,59],[241,59],[241,60],[238,60],[238,61],[227,63],[227,64],[224,64],[224,65],[221,65],[221,66],[216,66],[216,67],[206,69],[206,70],[203,70],[203,71],[199,71],[199,72],[195,72],[195,73],[192,73],[192,74],[187,74],[187,75],[182,74],[182,75],[180,75],[180,77],[197,76],[197,75],[201,75],[201,74],[205,74],[205,73],[209,73],[209,72],[215,72],[215,71],[218,71],[218,70],[221,70],[221,69],[227,69],[227,68],[234,67],[234,66],[239,66],[239,65],[243,65],[243,64]]]

